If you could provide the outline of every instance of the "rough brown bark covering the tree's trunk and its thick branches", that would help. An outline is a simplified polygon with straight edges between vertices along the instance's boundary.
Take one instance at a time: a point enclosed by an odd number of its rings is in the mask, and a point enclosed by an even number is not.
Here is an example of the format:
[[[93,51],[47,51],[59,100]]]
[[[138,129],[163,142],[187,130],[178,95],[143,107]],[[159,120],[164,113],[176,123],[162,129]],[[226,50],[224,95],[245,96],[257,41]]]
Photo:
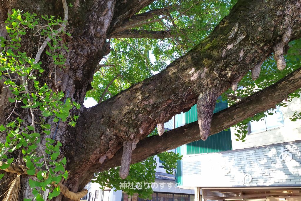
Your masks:
[[[46,54],[42,54],[41,61],[46,71],[39,78],[40,81],[47,83],[54,91],[57,85],[58,90],[65,93],[65,97],[82,103],[86,91],[91,88],[97,64],[108,53],[109,44],[106,43],[106,39],[151,2],[153,0],[71,1],[73,8],[69,12],[67,31],[72,36],[64,37],[70,50],[64,52],[67,58],[66,68],[57,71],[55,80],[55,67]],[[12,8],[35,12],[38,15],[63,16],[61,2],[56,0],[2,0],[0,3],[0,34],[5,37],[4,20]],[[283,67],[282,54],[287,48],[287,43],[301,36],[300,9],[301,0],[240,0],[205,40],[172,62],[161,73],[93,108],[73,111],[80,115],[77,126],[71,128],[66,123],[60,123],[56,134],[56,139],[63,143],[62,154],[67,157],[69,178],[64,184],[77,192],[88,183],[94,172],[119,165],[121,161],[121,173],[126,176],[131,158],[132,162],[138,162],[170,147],[199,140],[196,130],[203,133],[202,139],[206,139],[209,134],[214,134],[283,100],[288,93],[301,86],[299,71],[292,75],[293,78],[287,77],[289,82],[294,83],[284,83],[284,86],[287,84],[287,89],[282,85],[272,86],[273,92],[281,91],[281,96],[275,97],[273,101],[265,101],[264,93],[257,93],[253,98],[238,103],[238,108],[232,106],[227,109],[228,114],[232,115],[231,121],[231,115],[227,116],[223,112],[215,114],[209,133],[212,110],[220,94],[230,87],[235,88],[237,82],[254,67],[257,72],[258,64],[272,52],[276,53],[279,68]],[[35,39],[27,37],[24,41],[24,49],[34,57],[37,52],[33,46]],[[13,108],[12,104],[5,101],[8,96],[9,92],[0,83],[0,124],[7,122],[6,118]],[[157,124],[168,121],[182,111],[188,111],[196,102],[200,129],[196,124],[187,125],[160,137],[144,139]],[[255,103],[262,107],[246,115],[243,108]],[[243,106],[239,107],[239,104]],[[27,110],[19,113],[23,119],[27,119]],[[48,119],[49,122],[51,120]],[[56,125],[52,124],[51,135],[55,127]],[[185,130],[189,127],[192,128]],[[182,131],[184,137],[178,138],[178,133]],[[189,132],[185,139],[188,131],[191,133]],[[177,137],[171,137],[173,134]],[[0,136],[1,140],[4,138],[5,136]],[[143,148],[147,147],[145,145],[149,140],[156,142],[157,150],[154,152]],[[166,140],[171,142],[164,145]],[[14,156],[17,163],[22,163],[20,153],[16,152]],[[13,176],[7,174],[5,178],[11,177]],[[20,199],[28,196],[27,180],[28,177],[22,178]],[[4,193],[3,186],[0,187],[0,193]],[[62,196],[56,198],[61,199],[68,200]]]

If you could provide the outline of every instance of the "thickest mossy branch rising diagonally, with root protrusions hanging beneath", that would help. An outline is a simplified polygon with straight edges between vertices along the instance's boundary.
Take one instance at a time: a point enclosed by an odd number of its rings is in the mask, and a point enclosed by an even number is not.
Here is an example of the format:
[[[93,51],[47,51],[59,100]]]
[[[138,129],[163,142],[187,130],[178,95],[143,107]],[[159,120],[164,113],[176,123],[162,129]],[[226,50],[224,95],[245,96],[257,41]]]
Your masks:
[[[206,103],[213,103],[213,99],[207,98],[218,97],[235,86],[271,55],[273,46],[288,36],[288,30],[292,30],[292,37],[298,36],[301,22],[296,18],[300,9],[301,0],[240,0],[186,55],[162,72],[84,111],[70,130],[75,140],[64,153],[70,156],[67,168],[72,176],[82,179],[83,170],[91,174],[97,171],[104,166],[98,164],[100,159],[113,158],[124,142],[135,144],[144,139],[157,124],[188,111],[200,96],[204,116],[211,118],[212,104],[209,108]],[[210,126],[210,121],[203,123],[204,128]]]

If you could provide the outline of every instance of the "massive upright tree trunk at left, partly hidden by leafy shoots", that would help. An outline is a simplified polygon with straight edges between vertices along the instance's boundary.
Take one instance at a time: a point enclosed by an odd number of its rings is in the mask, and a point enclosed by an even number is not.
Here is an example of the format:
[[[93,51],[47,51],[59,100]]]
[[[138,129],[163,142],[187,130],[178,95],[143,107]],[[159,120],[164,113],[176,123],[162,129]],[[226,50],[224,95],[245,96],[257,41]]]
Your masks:
[[[1,36],[7,36],[5,33],[6,29],[4,20],[6,20],[7,13],[10,12],[12,8],[15,8],[16,10],[20,9],[24,12],[29,11],[31,13],[36,13],[39,17],[41,15],[54,15],[55,17],[64,16],[62,2],[56,0],[35,2],[26,0],[2,1],[1,4]],[[97,4],[97,8],[95,7],[95,4]],[[51,87],[53,91],[64,92],[65,98],[71,98],[73,101],[81,104],[83,103],[86,91],[91,89],[91,82],[95,67],[101,58],[108,53],[106,52],[107,46],[109,46],[109,44],[106,43],[106,32],[113,17],[114,4],[115,2],[110,0],[104,2],[95,2],[94,4],[90,5],[79,5],[79,3],[76,2],[73,3],[73,9],[72,11],[69,11],[69,24],[67,25],[67,31],[71,33],[72,36],[66,37],[65,35],[63,38],[64,42],[67,42],[69,49],[69,52],[63,52],[67,58],[67,61],[64,65],[65,68],[56,69],[55,76],[55,66],[51,59],[44,52],[41,56],[41,61],[42,67],[45,69],[45,71],[42,74],[42,77],[38,77],[40,83],[47,83],[47,85]],[[102,13],[98,19],[93,19],[95,12]],[[4,27],[4,29],[2,27]],[[28,35],[22,38],[23,41],[25,41],[22,44],[22,48],[24,52],[27,52],[27,55],[34,58],[37,52],[37,48],[33,46],[33,44],[36,43],[36,38],[29,37]],[[6,120],[13,110],[14,104],[8,102],[8,97],[10,97],[11,94],[8,88],[3,88],[3,86],[3,83],[0,83],[0,109],[2,111],[0,114],[0,125],[5,125],[7,122],[17,118],[17,115],[13,114],[11,118]],[[79,111],[72,112],[73,114],[79,114]],[[17,111],[16,113],[20,114],[20,118],[28,120],[28,122],[30,121],[30,119],[28,119],[29,110],[23,109],[22,111]],[[52,120],[53,117],[46,119],[46,122],[48,121],[51,123]],[[28,125],[30,125],[30,123]],[[55,123],[51,123],[50,137],[54,135],[54,130],[56,127],[57,125]],[[68,129],[69,127],[67,123],[61,122],[56,131],[56,140],[60,141],[66,146],[70,145],[70,141],[73,140],[73,135],[70,137]],[[2,142],[5,141],[4,133],[1,135],[1,140]],[[15,158],[14,163],[24,165],[21,150],[20,152],[14,152],[11,156]],[[13,178],[14,176],[15,175],[13,174],[6,174],[2,180],[5,181]],[[70,177],[70,179],[71,178],[72,177]],[[31,189],[28,185],[28,179],[29,177],[27,176],[21,176],[22,193],[20,200],[23,200],[23,198],[32,197],[30,193]],[[6,183],[0,186],[1,195],[5,193],[9,182],[10,181],[8,180]],[[70,190],[77,192],[78,185],[70,185]],[[0,199],[3,199],[3,197]]]

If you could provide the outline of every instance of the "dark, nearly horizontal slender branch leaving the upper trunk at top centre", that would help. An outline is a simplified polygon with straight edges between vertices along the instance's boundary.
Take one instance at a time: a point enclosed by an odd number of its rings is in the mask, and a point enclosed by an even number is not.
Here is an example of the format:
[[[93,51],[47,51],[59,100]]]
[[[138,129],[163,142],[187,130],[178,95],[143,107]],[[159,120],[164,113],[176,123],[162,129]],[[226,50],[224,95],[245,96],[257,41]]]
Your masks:
[[[113,33],[108,38],[152,38],[152,39],[164,39],[173,38],[175,34],[171,31],[148,31],[148,30],[125,30],[117,33]]]

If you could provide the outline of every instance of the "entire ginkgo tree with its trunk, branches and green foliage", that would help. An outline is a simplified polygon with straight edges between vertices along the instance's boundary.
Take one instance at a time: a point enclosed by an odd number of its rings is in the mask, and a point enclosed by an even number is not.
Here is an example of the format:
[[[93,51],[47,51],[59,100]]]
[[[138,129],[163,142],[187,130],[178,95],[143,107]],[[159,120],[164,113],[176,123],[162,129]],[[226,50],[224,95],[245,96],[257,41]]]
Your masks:
[[[20,199],[49,184],[49,199],[69,200],[58,182],[78,192],[98,172],[114,187],[230,126],[244,141],[248,121],[299,97],[300,0],[0,2],[1,168],[36,173]],[[213,115],[219,96],[231,106]],[[197,122],[164,133],[194,104]],[[169,171],[179,159],[161,157]],[[4,193],[14,175],[0,174]]]

